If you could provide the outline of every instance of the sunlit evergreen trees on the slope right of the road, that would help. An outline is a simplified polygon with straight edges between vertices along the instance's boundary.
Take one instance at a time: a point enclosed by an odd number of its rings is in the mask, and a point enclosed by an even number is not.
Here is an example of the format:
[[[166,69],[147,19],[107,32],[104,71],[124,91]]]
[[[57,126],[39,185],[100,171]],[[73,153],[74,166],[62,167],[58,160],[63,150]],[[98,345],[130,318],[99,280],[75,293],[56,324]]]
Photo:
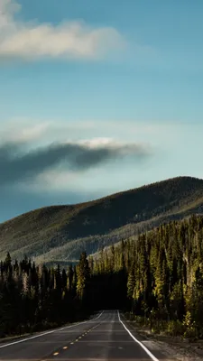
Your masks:
[[[104,278],[111,272],[126,277],[130,319],[156,332],[203,338],[202,217],[173,221],[138,236],[136,242],[112,245],[100,252],[94,270]]]

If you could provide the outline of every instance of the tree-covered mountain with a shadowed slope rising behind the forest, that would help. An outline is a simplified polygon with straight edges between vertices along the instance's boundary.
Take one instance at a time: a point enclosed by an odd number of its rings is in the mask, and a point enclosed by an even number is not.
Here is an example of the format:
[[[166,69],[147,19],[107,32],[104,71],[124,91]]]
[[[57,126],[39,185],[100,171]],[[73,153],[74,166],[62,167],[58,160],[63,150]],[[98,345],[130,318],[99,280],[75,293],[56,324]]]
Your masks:
[[[126,175],[127,176],[127,175]],[[39,262],[76,261],[163,222],[203,213],[203,180],[177,177],[102,199],[51,206],[0,224],[0,258],[24,255]]]

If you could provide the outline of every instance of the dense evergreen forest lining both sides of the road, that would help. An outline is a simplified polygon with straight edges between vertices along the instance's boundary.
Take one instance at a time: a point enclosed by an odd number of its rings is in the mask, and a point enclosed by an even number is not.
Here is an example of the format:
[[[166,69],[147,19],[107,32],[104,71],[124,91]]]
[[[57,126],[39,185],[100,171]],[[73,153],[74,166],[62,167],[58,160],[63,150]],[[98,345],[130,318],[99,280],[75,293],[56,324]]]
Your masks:
[[[1,337],[85,319],[93,311],[121,309],[155,331],[203,337],[203,218],[192,216],[83,252],[69,269],[28,259],[0,264]]]

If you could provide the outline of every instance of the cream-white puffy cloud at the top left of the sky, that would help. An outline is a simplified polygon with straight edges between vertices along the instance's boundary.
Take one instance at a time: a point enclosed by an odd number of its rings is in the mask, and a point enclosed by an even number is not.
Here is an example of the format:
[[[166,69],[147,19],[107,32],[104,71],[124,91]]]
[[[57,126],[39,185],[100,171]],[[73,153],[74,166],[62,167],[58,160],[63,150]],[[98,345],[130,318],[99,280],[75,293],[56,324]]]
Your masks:
[[[123,49],[125,40],[112,27],[92,29],[82,22],[23,23],[15,21],[20,6],[0,0],[0,57],[23,60],[39,58],[103,58],[106,52]]]

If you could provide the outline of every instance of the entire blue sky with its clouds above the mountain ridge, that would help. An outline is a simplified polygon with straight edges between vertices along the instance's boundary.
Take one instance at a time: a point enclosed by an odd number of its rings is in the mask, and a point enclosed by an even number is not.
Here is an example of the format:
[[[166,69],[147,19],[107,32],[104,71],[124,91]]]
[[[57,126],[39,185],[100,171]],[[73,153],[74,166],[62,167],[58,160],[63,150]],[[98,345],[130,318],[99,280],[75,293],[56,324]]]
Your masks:
[[[0,222],[203,178],[202,14],[202,0],[0,0]]]

